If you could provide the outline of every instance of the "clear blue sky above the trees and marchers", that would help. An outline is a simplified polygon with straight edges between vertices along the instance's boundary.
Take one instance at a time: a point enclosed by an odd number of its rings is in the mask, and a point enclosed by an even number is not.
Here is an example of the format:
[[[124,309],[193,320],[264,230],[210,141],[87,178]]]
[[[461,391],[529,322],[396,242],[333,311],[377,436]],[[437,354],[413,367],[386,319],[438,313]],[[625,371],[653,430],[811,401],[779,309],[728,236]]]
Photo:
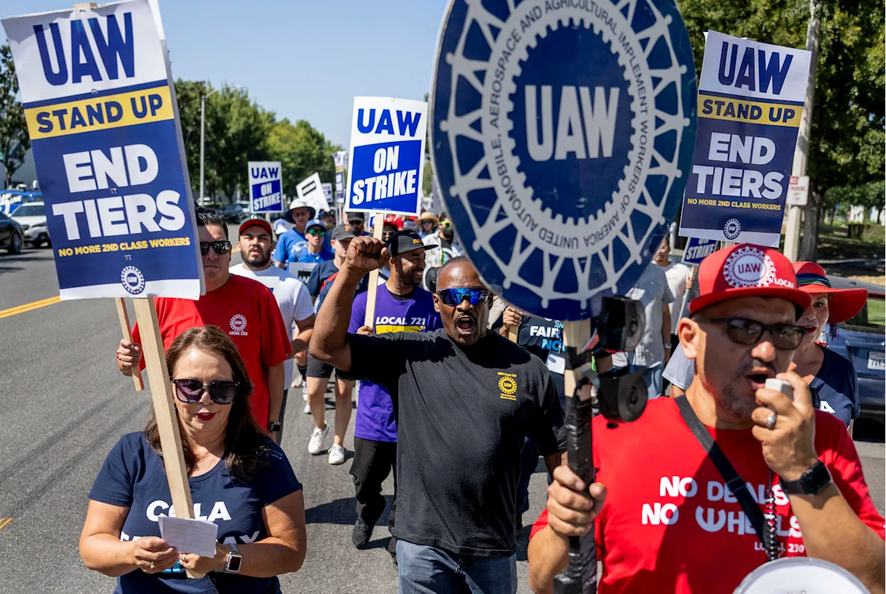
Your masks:
[[[0,17],[74,0],[4,0]],[[105,4],[105,3],[99,3]],[[447,0],[159,0],[176,78],[245,85],[347,147],[354,97],[422,99]],[[0,40],[6,36],[0,29]]]

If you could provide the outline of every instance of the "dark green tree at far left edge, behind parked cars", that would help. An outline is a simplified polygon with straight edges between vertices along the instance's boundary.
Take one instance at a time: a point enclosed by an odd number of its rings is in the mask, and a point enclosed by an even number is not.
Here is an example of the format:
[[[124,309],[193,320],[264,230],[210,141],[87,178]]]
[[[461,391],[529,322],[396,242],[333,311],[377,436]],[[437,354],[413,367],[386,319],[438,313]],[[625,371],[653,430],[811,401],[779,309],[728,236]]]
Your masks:
[[[12,174],[21,167],[31,146],[25,109],[18,95],[19,79],[7,43],[0,47],[0,152],[3,153],[0,163],[6,169],[6,188],[12,184]]]

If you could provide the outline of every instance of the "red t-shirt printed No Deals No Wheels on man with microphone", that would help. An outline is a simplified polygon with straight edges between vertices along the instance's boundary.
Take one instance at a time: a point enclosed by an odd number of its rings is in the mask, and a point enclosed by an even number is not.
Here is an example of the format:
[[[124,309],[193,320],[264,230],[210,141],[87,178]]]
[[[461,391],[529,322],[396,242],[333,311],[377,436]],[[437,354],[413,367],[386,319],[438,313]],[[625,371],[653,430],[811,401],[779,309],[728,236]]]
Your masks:
[[[765,502],[769,469],[750,429],[709,431],[750,493]],[[815,450],[852,510],[886,539],[846,427],[820,410],[815,411]],[[724,488],[671,398],[650,401],[634,423],[609,428],[605,418],[595,418],[594,465],[607,492],[595,524],[600,594],[731,594],[766,562],[742,506]],[[779,540],[788,557],[802,557],[800,525],[774,476],[773,483]],[[547,525],[545,510],[530,537]]]

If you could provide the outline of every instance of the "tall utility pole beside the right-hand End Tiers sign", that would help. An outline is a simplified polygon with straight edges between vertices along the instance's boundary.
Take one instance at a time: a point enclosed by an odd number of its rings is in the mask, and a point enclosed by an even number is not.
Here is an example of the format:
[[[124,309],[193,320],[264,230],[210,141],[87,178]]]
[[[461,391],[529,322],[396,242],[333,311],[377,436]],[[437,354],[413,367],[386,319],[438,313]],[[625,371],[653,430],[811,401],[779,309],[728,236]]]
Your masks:
[[[815,74],[819,65],[819,17],[820,0],[809,0],[809,24],[806,27],[806,50],[812,52],[809,65],[809,80],[806,82],[806,97],[803,101],[803,115],[797,133],[797,148],[794,150],[792,176],[805,176],[809,162],[809,137],[812,134],[812,107],[815,105]],[[800,257],[800,215],[803,207],[788,207],[788,225],[784,232],[784,254],[791,262]]]

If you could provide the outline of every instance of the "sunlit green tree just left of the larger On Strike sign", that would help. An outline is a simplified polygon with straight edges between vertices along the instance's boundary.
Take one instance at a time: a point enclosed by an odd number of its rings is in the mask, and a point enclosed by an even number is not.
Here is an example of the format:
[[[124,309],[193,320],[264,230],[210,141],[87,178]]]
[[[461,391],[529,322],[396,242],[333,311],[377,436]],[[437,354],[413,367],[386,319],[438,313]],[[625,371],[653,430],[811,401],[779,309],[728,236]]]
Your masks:
[[[317,172],[323,182],[335,180],[332,153],[342,150],[305,120],[293,125],[288,119],[276,121],[268,135],[270,160],[278,160],[283,168],[283,191],[296,195],[295,186]]]

